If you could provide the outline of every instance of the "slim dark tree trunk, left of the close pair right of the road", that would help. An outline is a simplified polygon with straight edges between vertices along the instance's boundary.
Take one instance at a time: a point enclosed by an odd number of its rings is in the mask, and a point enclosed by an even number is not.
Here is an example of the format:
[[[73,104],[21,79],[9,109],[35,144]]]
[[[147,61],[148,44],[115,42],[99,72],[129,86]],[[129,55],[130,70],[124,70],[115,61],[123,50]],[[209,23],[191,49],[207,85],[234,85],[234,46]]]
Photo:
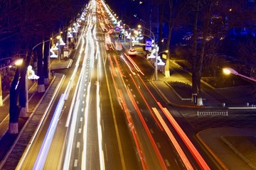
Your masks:
[[[196,85],[196,60],[197,60],[197,28],[198,28],[198,12],[199,12],[199,0],[196,4],[195,22],[193,25],[193,45],[192,45],[192,101],[196,103],[197,98],[197,85]]]

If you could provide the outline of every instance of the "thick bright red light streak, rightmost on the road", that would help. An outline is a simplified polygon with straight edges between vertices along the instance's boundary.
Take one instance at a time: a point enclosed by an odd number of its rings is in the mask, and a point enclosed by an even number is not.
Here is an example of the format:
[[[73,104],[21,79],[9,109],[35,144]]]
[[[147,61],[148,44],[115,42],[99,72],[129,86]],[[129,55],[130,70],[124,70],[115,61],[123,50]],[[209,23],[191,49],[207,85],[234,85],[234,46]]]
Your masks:
[[[161,105],[161,104],[159,103],[159,105]],[[169,111],[166,108],[161,107],[161,109],[162,109],[162,111],[164,111],[164,114],[168,118],[169,122],[176,129],[176,131],[178,132],[178,135],[181,137],[181,139],[185,143],[186,147],[188,147],[188,149],[190,150],[190,152],[193,155],[194,159],[196,159],[196,162],[201,167],[201,169],[209,169],[210,170],[210,167],[208,166],[208,164],[206,164],[206,161],[203,159],[201,154],[199,154],[198,150],[192,144],[191,140],[188,139],[187,135],[181,129],[181,127],[178,125],[178,123],[176,122],[174,117],[171,115],[171,113],[169,113]]]

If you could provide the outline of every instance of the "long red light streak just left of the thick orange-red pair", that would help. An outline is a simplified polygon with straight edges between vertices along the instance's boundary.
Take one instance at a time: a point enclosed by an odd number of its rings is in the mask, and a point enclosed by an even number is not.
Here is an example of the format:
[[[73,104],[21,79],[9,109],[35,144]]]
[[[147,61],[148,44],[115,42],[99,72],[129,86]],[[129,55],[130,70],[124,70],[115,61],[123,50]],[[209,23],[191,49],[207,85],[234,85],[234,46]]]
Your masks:
[[[159,163],[161,165],[161,169],[167,169],[166,164],[164,164],[164,159],[161,157],[161,154],[159,152],[159,149],[156,145],[156,142],[154,142],[154,138],[151,135],[151,132],[149,130],[149,128],[146,126],[146,122],[142,116],[141,111],[139,110],[139,107],[137,106],[136,101],[134,100],[134,96],[132,95],[132,92],[128,89],[128,95],[130,100],[132,101],[132,104],[134,106],[134,108],[136,109],[138,115],[139,115],[139,119],[142,121],[142,125],[144,127],[144,130],[146,132],[146,135],[149,137],[149,141],[151,142],[152,147],[154,148],[154,152],[156,153],[156,157],[159,159]]]

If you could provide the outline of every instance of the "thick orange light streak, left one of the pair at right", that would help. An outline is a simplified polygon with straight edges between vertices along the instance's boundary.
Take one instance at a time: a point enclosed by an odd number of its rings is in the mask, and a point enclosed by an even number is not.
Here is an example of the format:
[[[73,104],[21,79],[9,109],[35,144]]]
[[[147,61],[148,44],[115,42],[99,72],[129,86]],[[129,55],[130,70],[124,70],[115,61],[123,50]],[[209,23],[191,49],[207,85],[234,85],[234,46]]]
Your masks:
[[[186,166],[186,169],[193,169],[191,163],[188,161],[188,158],[186,157],[186,154],[181,149],[181,146],[178,145],[177,140],[175,139],[174,135],[171,133],[171,130],[169,130],[168,126],[164,122],[164,119],[161,118],[161,115],[159,114],[159,111],[157,111],[156,108],[152,108],[154,113],[156,114],[156,117],[159,119],[161,125],[164,127],[164,130],[166,131],[166,134],[168,135],[169,139],[173,143],[176,151],[178,152],[178,155],[181,157],[181,160],[183,164]]]

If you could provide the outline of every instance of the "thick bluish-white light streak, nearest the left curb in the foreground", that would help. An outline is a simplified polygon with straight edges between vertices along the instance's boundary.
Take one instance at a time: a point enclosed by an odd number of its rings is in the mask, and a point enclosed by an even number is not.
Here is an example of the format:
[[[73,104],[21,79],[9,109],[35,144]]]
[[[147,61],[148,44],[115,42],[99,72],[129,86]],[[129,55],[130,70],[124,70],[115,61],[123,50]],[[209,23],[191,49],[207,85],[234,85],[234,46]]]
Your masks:
[[[64,99],[65,99],[65,95],[61,94],[60,101],[58,102],[58,106],[56,107],[55,112],[53,114],[53,119],[50,121],[50,126],[46,132],[46,137],[43,140],[42,147],[40,149],[38,157],[36,158],[36,162],[33,166],[33,169],[43,169],[43,166],[46,162],[48,151],[50,149],[50,144],[53,140],[55,129],[58,124],[58,118],[60,117],[60,113],[62,111],[64,102],[65,102]]]

